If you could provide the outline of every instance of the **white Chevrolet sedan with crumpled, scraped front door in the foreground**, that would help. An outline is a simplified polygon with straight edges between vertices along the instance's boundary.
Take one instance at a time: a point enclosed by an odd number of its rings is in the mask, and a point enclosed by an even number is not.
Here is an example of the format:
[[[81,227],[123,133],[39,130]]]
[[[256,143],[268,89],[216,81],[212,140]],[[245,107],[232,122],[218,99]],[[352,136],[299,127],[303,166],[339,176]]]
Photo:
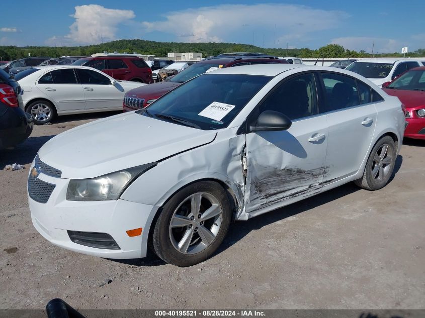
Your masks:
[[[151,246],[189,266],[217,250],[232,220],[350,181],[382,188],[403,131],[400,101],[358,74],[224,68],[49,140],[28,178],[32,221],[72,251],[140,258]]]

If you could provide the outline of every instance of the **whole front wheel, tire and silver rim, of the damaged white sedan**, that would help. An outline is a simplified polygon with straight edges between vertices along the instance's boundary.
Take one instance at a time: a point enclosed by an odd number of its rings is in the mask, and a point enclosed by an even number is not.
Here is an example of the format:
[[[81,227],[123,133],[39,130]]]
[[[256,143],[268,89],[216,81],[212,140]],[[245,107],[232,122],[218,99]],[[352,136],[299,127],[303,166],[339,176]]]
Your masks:
[[[165,203],[156,221],[152,243],[165,262],[185,267],[210,257],[227,234],[231,205],[218,183],[190,184]]]

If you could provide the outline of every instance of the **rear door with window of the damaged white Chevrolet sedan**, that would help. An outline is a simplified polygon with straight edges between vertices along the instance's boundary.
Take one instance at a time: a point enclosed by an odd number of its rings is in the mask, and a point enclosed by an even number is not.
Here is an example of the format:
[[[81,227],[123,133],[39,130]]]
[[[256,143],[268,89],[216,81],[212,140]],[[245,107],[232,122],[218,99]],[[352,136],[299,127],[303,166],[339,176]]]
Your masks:
[[[326,101],[319,112],[326,114],[329,140],[323,183],[355,174],[368,155],[377,112],[371,87],[353,77],[322,72]]]

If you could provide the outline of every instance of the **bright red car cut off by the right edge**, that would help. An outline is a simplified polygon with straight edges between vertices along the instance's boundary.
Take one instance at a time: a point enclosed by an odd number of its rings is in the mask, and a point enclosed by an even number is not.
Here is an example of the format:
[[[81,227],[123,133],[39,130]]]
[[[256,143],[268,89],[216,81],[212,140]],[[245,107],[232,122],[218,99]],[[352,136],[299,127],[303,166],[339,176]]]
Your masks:
[[[409,69],[382,87],[406,107],[404,137],[425,139],[425,66]]]

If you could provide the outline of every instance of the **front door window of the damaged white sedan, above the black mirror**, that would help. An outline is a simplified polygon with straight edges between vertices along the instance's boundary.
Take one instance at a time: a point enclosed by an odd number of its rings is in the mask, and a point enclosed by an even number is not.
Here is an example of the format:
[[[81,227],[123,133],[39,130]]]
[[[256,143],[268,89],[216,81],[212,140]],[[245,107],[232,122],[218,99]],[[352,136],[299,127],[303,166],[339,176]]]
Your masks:
[[[266,97],[259,107],[260,113],[276,111],[289,119],[299,119],[317,114],[317,92],[313,73],[293,77]]]

